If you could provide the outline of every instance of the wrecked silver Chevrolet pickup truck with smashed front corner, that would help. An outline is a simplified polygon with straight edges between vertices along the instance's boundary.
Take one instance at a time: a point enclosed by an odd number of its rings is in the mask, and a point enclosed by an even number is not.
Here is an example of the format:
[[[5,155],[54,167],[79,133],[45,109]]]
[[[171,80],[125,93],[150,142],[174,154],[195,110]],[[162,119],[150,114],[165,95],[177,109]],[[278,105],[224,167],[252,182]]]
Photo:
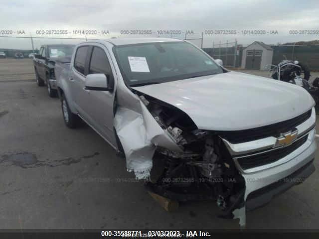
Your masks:
[[[183,40],[119,38],[76,45],[55,75],[66,126],[88,123],[148,190],[215,200],[244,226],[314,172],[314,101],[218,62]]]

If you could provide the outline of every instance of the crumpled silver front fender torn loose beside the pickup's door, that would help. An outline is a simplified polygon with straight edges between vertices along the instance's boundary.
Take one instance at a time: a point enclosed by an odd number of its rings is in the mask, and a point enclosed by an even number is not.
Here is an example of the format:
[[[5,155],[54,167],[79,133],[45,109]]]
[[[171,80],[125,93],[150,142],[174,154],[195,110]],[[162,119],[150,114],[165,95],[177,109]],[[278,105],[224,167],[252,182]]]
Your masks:
[[[136,97],[138,108],[117,108],[114,127],[126,156],[128,171],[134,171],[138,179],[146,179],[152,169],[156,146],[175,152],[182,149],[160,127],[142,101]]]

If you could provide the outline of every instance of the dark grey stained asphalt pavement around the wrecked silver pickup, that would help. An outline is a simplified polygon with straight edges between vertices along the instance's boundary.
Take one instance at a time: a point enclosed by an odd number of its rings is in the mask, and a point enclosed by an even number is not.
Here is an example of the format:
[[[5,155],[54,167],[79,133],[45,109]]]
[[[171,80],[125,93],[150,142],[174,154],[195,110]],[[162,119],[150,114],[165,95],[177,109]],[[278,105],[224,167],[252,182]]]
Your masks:
[[[247,229],[319,229],[318,183],[317,170],[248,212]],[[64,125],[31,59],[0,59],[0,229],[239,228],[218,212],[214,202],[164,211],[93,129]]]

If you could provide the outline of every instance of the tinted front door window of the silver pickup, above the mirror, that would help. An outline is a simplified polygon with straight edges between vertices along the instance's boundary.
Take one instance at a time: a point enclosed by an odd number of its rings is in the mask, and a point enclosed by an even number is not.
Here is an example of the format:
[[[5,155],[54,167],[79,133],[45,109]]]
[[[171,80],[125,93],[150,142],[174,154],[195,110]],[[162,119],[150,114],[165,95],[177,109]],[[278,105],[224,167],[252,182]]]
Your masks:
[[[104,50],[100,47],[93,47],[90,66],[89,66],[89,74],[95,74],[95,73],[112,75],[112,70],[111,70],[109,60]]]

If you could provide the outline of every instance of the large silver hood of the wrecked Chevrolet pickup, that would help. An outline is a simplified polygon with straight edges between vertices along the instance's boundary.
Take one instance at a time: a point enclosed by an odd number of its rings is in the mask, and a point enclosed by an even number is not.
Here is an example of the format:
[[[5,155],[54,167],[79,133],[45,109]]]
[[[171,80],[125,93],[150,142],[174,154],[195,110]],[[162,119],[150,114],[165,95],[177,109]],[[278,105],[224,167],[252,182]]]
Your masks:
[[[238,72],[133,89],[177,107],[207,130],[268,125],[297,117],[315,104],[300,86]]]

